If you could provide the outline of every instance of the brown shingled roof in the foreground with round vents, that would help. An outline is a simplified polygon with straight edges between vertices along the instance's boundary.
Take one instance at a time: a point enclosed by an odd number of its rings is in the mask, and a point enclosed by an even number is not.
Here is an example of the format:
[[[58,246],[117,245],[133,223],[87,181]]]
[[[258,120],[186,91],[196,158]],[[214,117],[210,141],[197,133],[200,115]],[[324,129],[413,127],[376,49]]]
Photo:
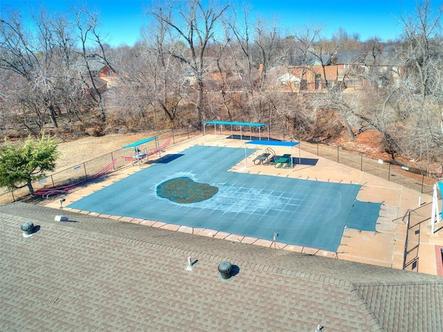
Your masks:
[[[60,212],[0,206],[5,331],[443,331],[442,277]]]

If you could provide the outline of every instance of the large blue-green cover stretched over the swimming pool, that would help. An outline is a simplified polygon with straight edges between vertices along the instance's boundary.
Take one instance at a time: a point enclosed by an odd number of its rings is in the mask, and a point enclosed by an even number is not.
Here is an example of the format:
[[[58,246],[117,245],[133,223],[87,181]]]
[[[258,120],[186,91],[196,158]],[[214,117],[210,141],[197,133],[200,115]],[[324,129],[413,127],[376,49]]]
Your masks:
[[[163,156],[152,167],[68,206],[267,240],[278,232],[279,242],[336,252],[361,185],[228,172],[245,153],[253,151],[191,147]],[[289,174],[291,169],[282,172]],[[199,203],[174,203],[157,196],[158,185],[179,177],[208,183],[219,190]],[[376,210],[365,214],[377,220]]]

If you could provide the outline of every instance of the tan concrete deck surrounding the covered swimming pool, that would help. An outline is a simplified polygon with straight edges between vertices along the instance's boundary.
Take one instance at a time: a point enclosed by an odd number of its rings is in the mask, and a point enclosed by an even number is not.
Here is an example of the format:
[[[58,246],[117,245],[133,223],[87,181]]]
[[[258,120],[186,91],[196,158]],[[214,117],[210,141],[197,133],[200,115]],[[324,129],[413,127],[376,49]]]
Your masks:
[[[244,140],[233,140],[228,138],[221,139],[221,136],[206,135],[190,138],[185,142],[168,147],[163,154],[176,154],[188,147],[195,145],[218,146],[218,147],[241,147],[244,148]],[[249,147],[251,148],[251,146]],[[288,147],[272,147],[279,156],[287,154]],[[257,154],[251,154],[247,160],[242,160],[234,165],[231,172],[243,172],[251,174],[267,174],[272,176],[284,176],[290,178],[302,178],[311,181],[327,181],[334,183],[358,183],[363,185],[356,197],[359,201],[381,202],[381,212],[377,219],[377,232],[365,232],[348,229],[343,233],[341,245],[338,252],[327,252],[316,248],[307,248],[301,246],[288,246],[284,243],[273,243],[264,239],[255,239],[244,237],[237,234],[228,234],[217,232],[217,230],[190,228],[183,225],[173,225],[162,223],[159,221],[134,219],[127,216],[110,216],[98,214],[91,211],[80,211],[75,209],[64,208],[73,212],[84,214],[92,214],[109,219],[116,219],[129,223],[139,223],[151,227],[163,228],[167,230],[188,232],[199,234],[205,237],[215,237],[217,239],[226,239],[227,241],[241,241],[242,243],[253,243],[258,246],[266,246],[280,250],[293,250],[297,252],[305,252],[311,255],[322,255],[335,259],[346,259],[350,261],[358,261],[365,264],[373,264],[378,266],[386,266],[401,269],[404,261],[405,239],[407,234],[407,226],[401,218],[408,209],[413,210],[419,208],[419,202],[422,205],[420,214],[422,219],[429,219],[431,216],[432,196],[421,194],[415,190],[404,187],[392,181],[387,181],[372,174],[361,172],[358,169],[347,167],[328,160],[307,151],[301,150],[299,154],[298,147],[293,148],[293,157],[311,158],[318,160],[316,165],[294,165],[293,169],[275,168],[273,165],[254,165],[253,159],[264,153],[266,146],[259,146]],[[154,158],[154,156],[153,156]],[[153,160],[151,158],[150,160]],[[247,165],[247,166],[246,166]],[[141,167],[150,167],[148,163],[142,163]],[[64,198],[64,205],[69,205],[84,196],[100,190],[111,183],[119,181],[131,174],[138,172],[138,165],[128,166],[112,172],[103,181],[91,183],[86,187],[80,187],[78,190],[69,192]],[[56,199],[48,199],[43,202],[45,206],[51,208],[60,208],[60,197]],[[443,225],[440,225],[442,227]],[[436,256],[438,254],[437,246],[443,246],[443,230],[431,234],[431,223],[429,220],[424,221],[419,229],[419,264],[415,270],[420,273],[428,273],[436,275],[441,273],[442,269],[436,266]]]

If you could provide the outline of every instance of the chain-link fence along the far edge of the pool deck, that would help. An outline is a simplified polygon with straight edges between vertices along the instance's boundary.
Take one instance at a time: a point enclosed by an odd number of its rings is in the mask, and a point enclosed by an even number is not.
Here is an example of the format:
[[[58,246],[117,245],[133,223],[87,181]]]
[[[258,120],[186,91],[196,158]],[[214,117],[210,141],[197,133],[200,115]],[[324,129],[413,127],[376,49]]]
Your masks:
[[[235,135],[240,137],[243,135],[244,139],[246,140],[252,136],[257,136],[254,137],[254,139],[258,139],[258,133],[255,131],[256,129],[251,129],[250,133],[233,131],[232,136]],[[212,132],[208,131],[208,133]],[[201,133],[196,129],[187,128],[182,130],[162,131],[153,136],[157,136],[159,138],[160,145],[168,138],[171,138],[172,145],[175,145],[183,140],[188,140],[188,138],[192,136],[198,135],[201,135]],[[262,133],[261,138],[266,140],[269,138],[266,136],[269,136],[269,133]],[[148,151],[155,149],[154,141],[147,144],[150,144],[150,146],[147,148]],[[395,165],[392,161],[381,160],[376,156],[363,154],[360,151],[354,151],[339,145],[334,146],[322,142],[311,143],[302,141],[300,144],[300,149],[310,152],[311,154],[316,154],[316,156],[321,156],[329,160],[334,160],[337,163],[341,163],[355,169],[360,169],[361,171],[367,172],[374,176],[385,178],[388,181],[404,185],[405,187],[409,187],[424,194],[432,193],[433,184],[436,181],[434,178],[426,176],[427,172],[422,169],[409,169],[408,167]],[[114,162],[113,160],[116,161]],[[102,172],[102,170],[111,163],[114,163],[114,165],[111,165],[111,167],[107,169],[107,172],[113,172],[114,170],[125,165],[125,161],[123,160],[123,152],[121,149],[98,158],[84,161],[83,163],[79,163],[78,165],[75,165],[69,169],[64,169],[63,171],[51,174],[41,181],[33,183],[33,187],[37,191],[44,187],[60,187],[62,185],[70,185],[82,181],[88,181],[89,179],[93,179],[96,174],[100,174],[100,172]],[[12,190],[10,192],[4,192],[3,194],[0,194],[0,203],[19,201],[27,196],[29,196],[27,187]]]

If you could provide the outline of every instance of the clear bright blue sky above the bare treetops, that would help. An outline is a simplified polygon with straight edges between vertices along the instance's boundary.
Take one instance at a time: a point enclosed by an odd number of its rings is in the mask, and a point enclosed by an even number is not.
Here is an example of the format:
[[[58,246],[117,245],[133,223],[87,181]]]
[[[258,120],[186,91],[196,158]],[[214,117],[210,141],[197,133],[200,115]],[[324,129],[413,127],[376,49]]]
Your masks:
[[[242,1],[242,0],[237,0]],[[4,6],[26,12],[28,8],[42,6],[49,11],[68,12],[79,3],[87,3],[100,13],[102,33],[108,35],[111,45],[132,45],[138,39],[140,29],[146,24],[144,10],[150,0],[0,0]],[[438,1],[433,2],[433,4]],[[378,36],[387,41],[401,34],[398,18],[415,12],[413,0],[250,0],[250,17],[280,22],[282,32],[294,34],[300,26],[322,26],[324,37],[331,37],[339,28],[352,35],[358,33],[361,40]]]

